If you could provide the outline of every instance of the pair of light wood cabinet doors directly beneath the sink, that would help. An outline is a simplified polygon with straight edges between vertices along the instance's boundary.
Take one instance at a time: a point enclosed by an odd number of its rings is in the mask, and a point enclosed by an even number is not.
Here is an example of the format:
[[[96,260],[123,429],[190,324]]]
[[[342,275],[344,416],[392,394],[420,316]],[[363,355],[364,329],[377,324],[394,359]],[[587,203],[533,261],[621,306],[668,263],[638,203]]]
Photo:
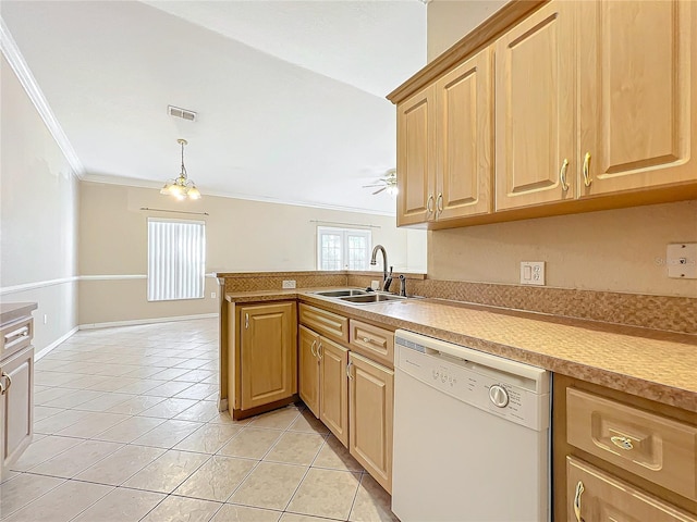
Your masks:
[[[309,410],[348,446],[348,350],[299,326],[299,395]]]

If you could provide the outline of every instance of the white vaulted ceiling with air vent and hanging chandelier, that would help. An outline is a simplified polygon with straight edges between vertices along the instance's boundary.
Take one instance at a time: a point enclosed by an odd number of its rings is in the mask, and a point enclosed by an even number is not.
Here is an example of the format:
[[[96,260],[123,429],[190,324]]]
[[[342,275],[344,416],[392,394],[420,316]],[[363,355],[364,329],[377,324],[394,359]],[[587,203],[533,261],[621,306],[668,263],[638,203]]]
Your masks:
[[[84,179],[159,186],[183,137],[204,197],[394,213],[362,185],[395,165],[384,95],[425,65],[420,1],[3,0],[0,14]]]

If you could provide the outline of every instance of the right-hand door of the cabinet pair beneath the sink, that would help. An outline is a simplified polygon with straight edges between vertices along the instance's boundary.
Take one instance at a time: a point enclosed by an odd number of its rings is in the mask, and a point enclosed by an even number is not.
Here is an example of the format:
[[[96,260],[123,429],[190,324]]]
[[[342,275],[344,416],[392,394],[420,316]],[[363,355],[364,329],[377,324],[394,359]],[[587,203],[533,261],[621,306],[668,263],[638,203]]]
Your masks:
[[[320,359],[320,414],[319,419],[337,436],[341,444],[348,446],[348,350],[322,338]]]

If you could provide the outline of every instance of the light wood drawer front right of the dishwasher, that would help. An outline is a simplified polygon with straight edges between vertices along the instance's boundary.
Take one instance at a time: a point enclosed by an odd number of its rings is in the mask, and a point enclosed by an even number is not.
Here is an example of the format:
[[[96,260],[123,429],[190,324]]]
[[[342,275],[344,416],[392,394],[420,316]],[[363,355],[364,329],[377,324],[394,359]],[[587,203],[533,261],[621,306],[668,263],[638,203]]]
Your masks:
[[[697,427],[567,388],[566,440],[678,495],[697,499]]]

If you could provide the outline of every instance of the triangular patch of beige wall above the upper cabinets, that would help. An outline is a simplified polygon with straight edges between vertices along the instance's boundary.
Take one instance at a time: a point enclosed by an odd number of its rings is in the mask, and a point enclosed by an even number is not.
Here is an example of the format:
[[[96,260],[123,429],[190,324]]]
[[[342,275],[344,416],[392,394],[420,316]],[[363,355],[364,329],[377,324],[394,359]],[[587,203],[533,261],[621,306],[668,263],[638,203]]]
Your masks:
[[[427,60],[431,62],[505,3],[508,0],[431,0],[426,12]]]

